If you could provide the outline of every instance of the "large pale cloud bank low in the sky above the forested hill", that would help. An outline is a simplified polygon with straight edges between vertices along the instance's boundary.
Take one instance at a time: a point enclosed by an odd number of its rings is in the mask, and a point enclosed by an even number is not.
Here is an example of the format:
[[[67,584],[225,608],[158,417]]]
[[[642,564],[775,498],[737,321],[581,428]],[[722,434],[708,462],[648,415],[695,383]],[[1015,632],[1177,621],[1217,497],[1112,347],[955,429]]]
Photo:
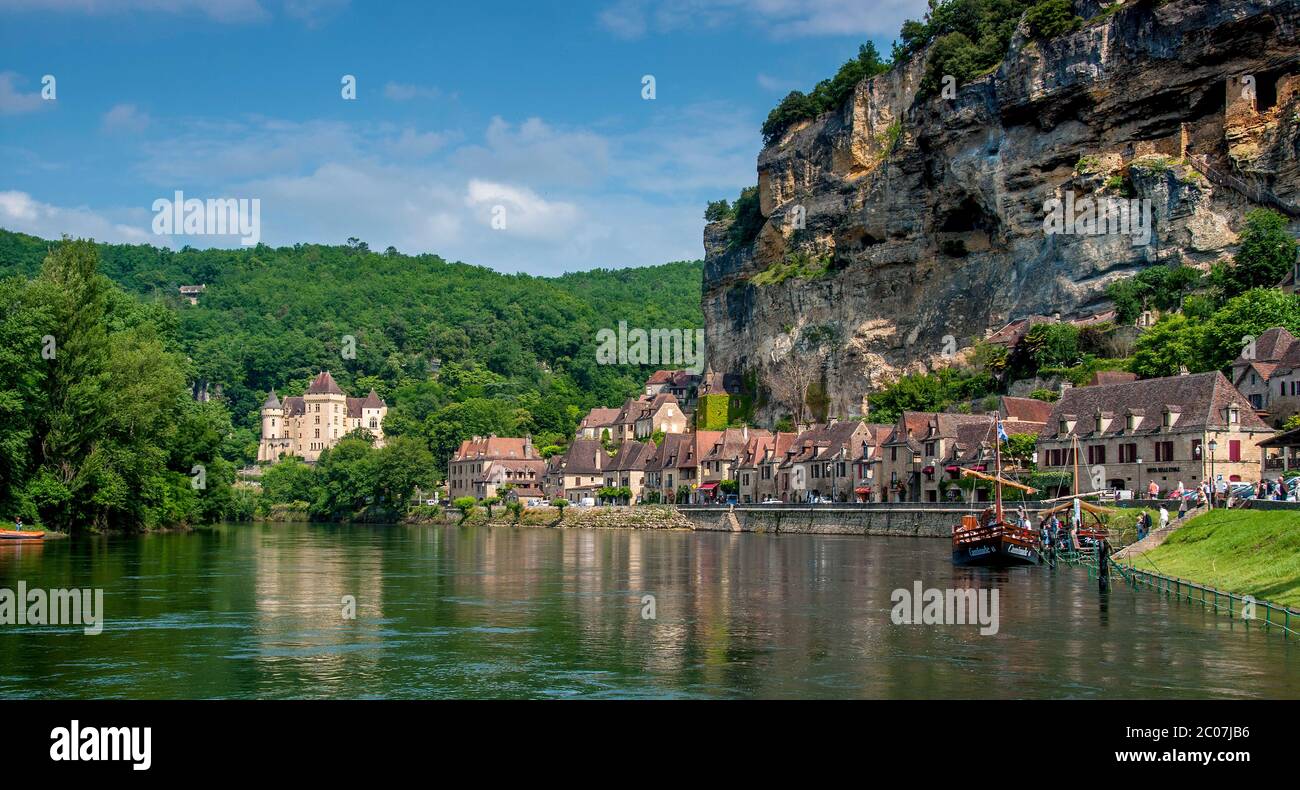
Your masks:
[[[724,104],[663,105],[629,129],[493,118],[463,142],[456,130],[395,123],[168,120],[166,135],[121,146],[136,179],[157,187],[133,209],[143,216],[46,207],[22,229],[165,243],[140,235],[153,198],[181,188],[260,199],[272,246],[358,236],[374,249],[538,274],[659,264],[699,257],[706,200],[754,182],[755,123]],[[495,205],[506,208],[504,230],[491,226]],[[14,226],[5,217],[0,225]],[[133,236],[131,227],[143,230]]]

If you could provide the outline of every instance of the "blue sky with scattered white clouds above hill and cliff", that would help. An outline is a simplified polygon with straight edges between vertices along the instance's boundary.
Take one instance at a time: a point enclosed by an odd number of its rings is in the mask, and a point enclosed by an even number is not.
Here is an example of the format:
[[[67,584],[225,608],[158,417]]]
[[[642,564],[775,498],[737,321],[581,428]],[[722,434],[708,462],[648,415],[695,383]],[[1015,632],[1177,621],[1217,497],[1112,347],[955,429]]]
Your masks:
[[[238,244],[155,235],[153,200],[181,190],[257,198],[274,246],[358,236],[534,274],[696,259],[705,203],[755,182],[767,110],[864,40],[888,55],[923,10],[0,0],[0,226]]]

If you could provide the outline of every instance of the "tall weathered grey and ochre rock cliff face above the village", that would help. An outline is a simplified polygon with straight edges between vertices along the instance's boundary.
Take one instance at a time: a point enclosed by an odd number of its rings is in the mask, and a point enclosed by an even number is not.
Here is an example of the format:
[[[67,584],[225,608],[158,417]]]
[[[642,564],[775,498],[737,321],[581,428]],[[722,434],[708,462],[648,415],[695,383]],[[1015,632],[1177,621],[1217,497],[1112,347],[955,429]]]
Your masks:
[[[1009,320],[1092,314],[1115,278],[1230,256],[1256,203],[1300,205],[1297,31],[1300,0],[1128,0],[1050,42],[1022,26],[956,96],[918,99],[924,53],[863,81],[759,155],[753,243],[706,227],[710,364],[760,372],[828,339],[829,413],[858,414]],[[1149,200],[1149,240],[1048,233],[1067,196]]]

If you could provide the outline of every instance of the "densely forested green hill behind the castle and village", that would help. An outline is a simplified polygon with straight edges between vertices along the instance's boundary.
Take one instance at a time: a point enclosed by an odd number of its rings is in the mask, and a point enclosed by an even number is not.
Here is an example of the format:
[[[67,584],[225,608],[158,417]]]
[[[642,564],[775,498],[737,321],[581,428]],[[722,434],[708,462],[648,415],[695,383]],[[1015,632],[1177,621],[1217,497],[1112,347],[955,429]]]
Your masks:
[[[0,277],[34,277],[52,246],[0,230]],[[373,386],[394,407],[391,430],[425,435],[436,457],[473,433],[554,443],[646,374],[597,365],[599,329],[702,326],[699,261],[542,278],[360,242],[99,251],[100,272],[120,287],[176,308],[191,376],[220,385],[246,447],[266,391],[300,394],[321,369],[354,395]],[[196,307],[182,285],[207,286]]]

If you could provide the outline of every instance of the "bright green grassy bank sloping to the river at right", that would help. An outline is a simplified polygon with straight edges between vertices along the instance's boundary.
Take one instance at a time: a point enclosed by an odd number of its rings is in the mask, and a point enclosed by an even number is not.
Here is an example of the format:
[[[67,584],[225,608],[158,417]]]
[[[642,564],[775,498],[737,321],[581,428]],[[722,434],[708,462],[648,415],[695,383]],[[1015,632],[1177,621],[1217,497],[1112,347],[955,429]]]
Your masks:
[[[1300,512],[1213,511],[1130,564],[1300,608]]]

